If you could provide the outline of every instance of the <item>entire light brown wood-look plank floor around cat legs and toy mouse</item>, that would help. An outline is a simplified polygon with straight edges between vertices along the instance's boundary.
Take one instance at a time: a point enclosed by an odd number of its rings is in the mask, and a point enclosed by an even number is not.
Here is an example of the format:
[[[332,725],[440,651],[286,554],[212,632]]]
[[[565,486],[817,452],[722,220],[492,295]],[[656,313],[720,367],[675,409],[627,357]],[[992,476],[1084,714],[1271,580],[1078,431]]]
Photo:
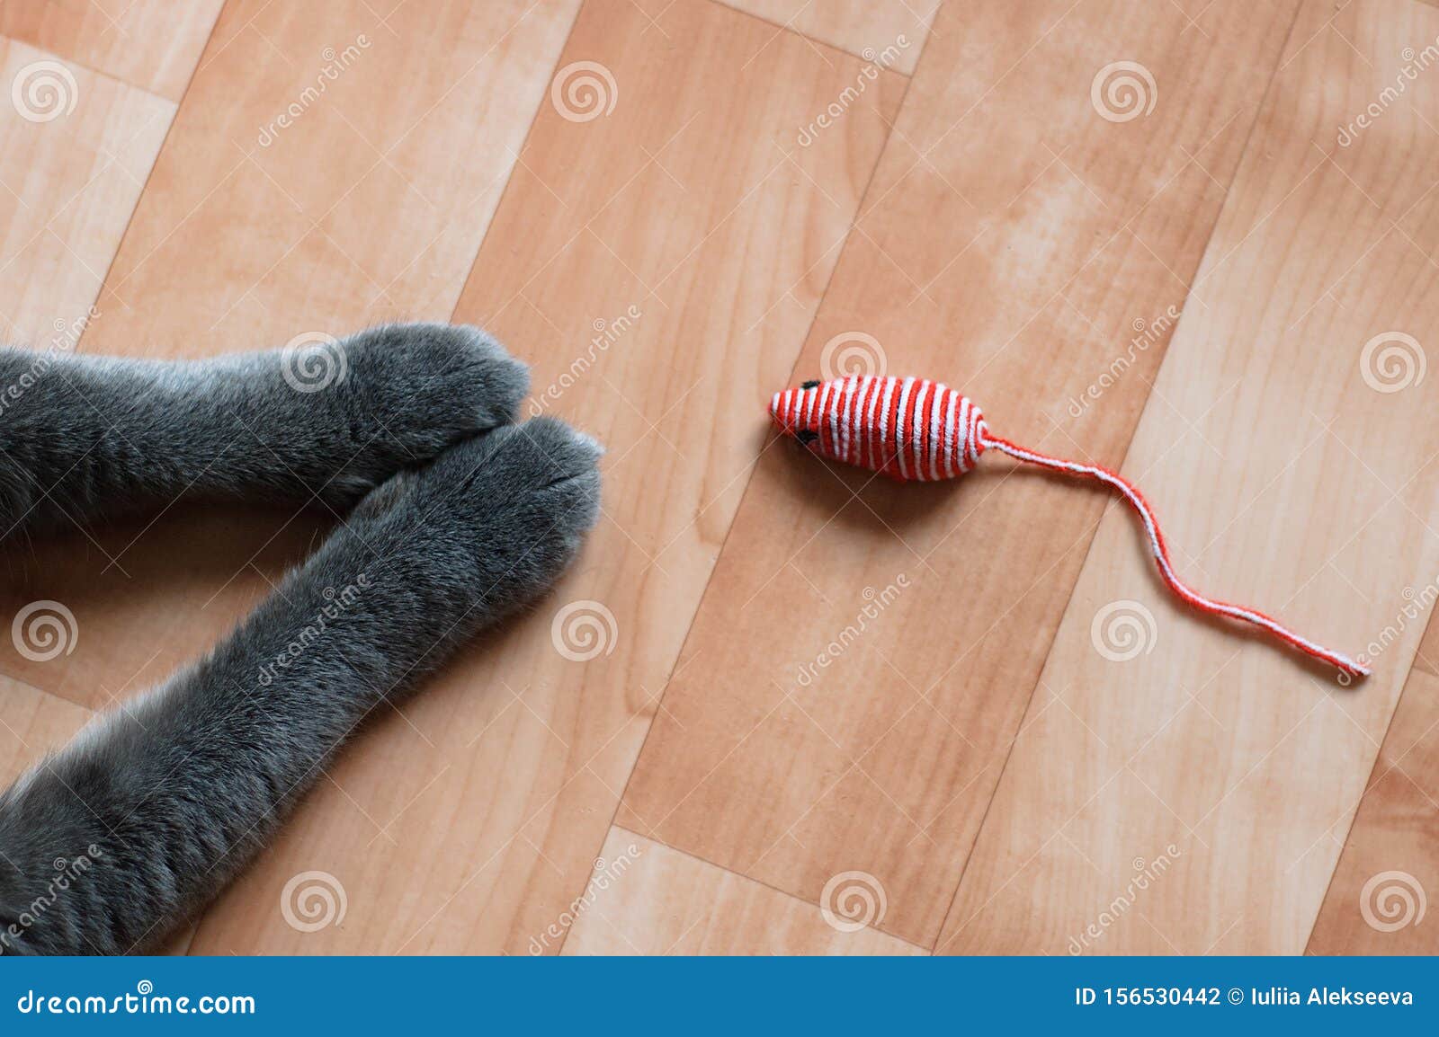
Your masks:
[[[555,597],[176,952],[1439,951],[1435,6],[6,0],[0,66],[9,339],[468,321],[609,447]],[[1374,677],[1177,607],[1102,493],[773,442],[849,364],[1120,467]],[[0,777],[322,535],[181,502],[6,557],[0,620],[75,627],[0,639]]]

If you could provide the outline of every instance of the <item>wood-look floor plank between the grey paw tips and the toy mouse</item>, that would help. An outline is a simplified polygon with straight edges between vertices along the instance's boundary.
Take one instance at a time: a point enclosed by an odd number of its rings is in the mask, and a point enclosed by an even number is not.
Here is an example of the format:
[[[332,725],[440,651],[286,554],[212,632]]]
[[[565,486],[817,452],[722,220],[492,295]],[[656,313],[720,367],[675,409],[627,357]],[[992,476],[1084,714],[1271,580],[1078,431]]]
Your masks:
[[[902,91],[796,147],[861,63],[768,37],[701,0],[581,12],[560,65],[603,66],[613,109],[541,108],[455,316],[606,443],[604,516],[550,601],[358,739],[197,952],[524,954],[583,895]],[[342,928],[285,925],[302,870],[342,882]]]

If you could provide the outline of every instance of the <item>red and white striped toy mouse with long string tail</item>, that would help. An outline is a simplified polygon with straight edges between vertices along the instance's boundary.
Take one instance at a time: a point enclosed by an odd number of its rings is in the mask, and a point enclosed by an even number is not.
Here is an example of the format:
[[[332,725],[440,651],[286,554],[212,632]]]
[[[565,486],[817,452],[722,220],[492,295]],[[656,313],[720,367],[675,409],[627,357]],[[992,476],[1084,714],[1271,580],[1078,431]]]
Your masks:
[[[1285,644],[1337,667],[1344,679],[1367,677],[1370,673],[1367,666],[1301,637],[1261,611],[1215,601],[1186,585],[1174,572],[1154,509],[1132,483],[1107,467],[1050,457],[1000,439],[990,431],[984,414],[970,398],[943,383],[868,374],[806,381],[799,388],[776,393],[770,400],[770,416],[784,434],[804,443],[813,453],[901,482],[964,475],[990,447],[1030,465],[1102,482],[1118,490],[1138,513],[1160,575],[1186,603],[1210,616],[1261,627]]]

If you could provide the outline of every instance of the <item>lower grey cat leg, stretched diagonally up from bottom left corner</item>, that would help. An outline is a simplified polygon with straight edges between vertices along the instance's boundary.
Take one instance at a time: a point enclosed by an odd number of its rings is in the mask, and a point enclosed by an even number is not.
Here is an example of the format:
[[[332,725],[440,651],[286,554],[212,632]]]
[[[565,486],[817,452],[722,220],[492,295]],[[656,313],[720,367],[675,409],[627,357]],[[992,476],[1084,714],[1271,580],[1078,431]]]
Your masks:
[[[144,951],[207,903],[371,711],[558,578],[599,454],[537,419],[396,476],[207,659],[0,792],[0,954]]]

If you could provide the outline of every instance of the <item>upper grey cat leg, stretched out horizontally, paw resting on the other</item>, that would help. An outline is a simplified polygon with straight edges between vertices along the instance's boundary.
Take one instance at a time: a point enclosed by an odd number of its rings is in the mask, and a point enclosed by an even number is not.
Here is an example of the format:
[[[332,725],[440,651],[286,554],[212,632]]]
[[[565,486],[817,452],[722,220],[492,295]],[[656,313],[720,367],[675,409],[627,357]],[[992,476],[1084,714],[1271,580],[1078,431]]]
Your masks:
[[[348,508],[514,420],[478,328],[400,324],[196,361],[0,350],[0,539],[186,499]]]

